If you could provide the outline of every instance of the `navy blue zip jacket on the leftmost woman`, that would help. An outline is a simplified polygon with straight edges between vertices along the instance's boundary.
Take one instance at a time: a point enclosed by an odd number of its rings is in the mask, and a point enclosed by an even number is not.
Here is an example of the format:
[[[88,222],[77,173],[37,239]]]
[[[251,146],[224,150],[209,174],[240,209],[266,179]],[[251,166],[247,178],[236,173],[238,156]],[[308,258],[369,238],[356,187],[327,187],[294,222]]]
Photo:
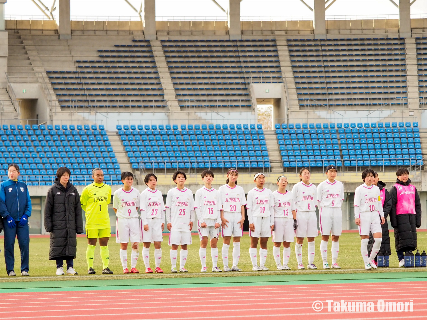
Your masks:
[[[8,179],[0,184],[0,215],[19,221],[23,214],[31,216],[31,198],[23,181]]]

